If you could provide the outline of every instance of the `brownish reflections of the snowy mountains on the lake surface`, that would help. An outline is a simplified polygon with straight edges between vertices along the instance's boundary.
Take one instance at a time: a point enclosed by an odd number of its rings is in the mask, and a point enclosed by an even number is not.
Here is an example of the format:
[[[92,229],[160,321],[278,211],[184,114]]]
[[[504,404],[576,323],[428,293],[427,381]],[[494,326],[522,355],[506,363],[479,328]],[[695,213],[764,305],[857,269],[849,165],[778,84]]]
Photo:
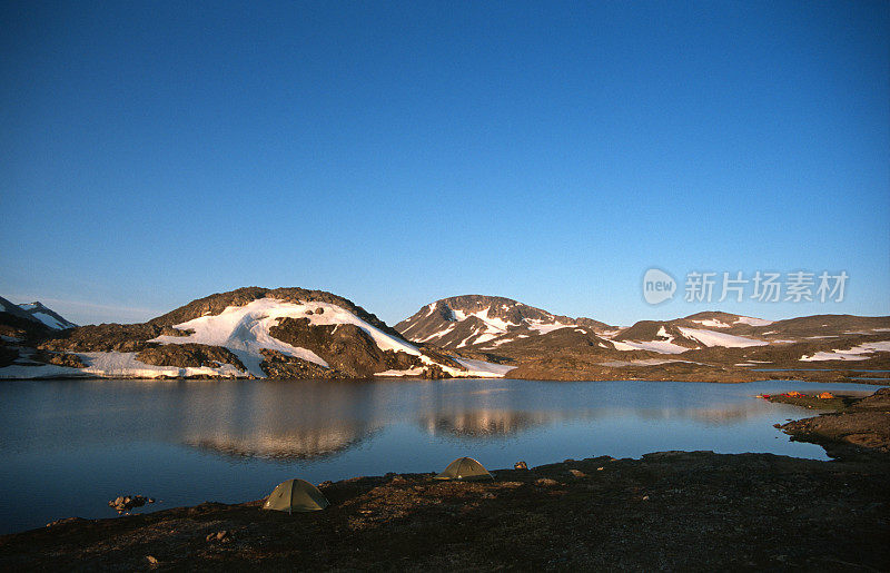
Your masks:
[[[412,415],[431,436],[493,439],[562,423],[616,418],[720,426],[777,411],[763,401],[721,397],[719,386],[714,393],[712,385],[703,384],[688,387],[713,396],[671,392],[657,384],[646,393],[625,395],[609,385],[632,383],[586,383],[605,391],[594,407],[582,399],[591,386],[553,384],[553,393],[542,401],[545,394],[530,393],[523,383],[478,387],[484,384],[491,383],[295,381],[267,383],[261,392],[247,393],[221,386],[209,402],[204,395],[191,396],[189,409],[199,415],[189,419],[178,441],[236,457],[314,460],[344,453]],[[542,402],[544,407],[535,409]]]

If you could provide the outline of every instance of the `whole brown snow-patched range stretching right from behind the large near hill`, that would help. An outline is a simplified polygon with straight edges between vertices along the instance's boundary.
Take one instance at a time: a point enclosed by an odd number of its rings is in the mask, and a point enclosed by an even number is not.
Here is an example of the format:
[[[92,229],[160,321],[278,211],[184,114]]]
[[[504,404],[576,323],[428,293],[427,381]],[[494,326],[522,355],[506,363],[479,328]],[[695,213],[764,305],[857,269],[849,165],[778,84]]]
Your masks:
[[[832,368],[850,376],[853,367],[890,365],[890,317],[768,320],[711,310],[620,328],[508,298],[468,295],[436,300],[396,329],[417,344],[515,364],[510,373],[515,378],[742,382],[767,376],[758,368],[819,366],[804,377],[821,379]]]

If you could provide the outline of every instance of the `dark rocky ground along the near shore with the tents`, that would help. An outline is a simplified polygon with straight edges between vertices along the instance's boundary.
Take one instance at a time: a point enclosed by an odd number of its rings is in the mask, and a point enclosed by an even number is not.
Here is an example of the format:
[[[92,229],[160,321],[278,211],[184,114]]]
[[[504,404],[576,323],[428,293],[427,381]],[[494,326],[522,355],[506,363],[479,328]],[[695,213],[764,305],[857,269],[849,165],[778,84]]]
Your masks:
[[[784,429],[831,443],[844,419],[888,415],[888,402],[882,389]],[[293,516],[256,501],[70,518],[0,537],[0,569],[888,570],[890,456],[866,442],[843,442],[832,462],[662,452],[484,483],[358,477],[322,484],[330,507]]]

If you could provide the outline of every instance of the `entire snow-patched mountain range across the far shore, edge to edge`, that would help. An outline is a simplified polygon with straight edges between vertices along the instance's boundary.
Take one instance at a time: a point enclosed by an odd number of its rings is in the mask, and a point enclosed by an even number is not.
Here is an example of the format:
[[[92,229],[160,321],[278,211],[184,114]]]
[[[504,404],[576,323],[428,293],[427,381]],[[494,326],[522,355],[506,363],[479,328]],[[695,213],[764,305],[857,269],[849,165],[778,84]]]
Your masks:
[[[465,295],[436,300],[393,328],[324,290],[245,287],[146,323],[73,326],[39,303],[0,298],[0,378],[744,382],[793,372],[797,379],[880,383],[890,382],[880,374],[888,369],[890,317],[768,320],[706,312],[620,328]]]

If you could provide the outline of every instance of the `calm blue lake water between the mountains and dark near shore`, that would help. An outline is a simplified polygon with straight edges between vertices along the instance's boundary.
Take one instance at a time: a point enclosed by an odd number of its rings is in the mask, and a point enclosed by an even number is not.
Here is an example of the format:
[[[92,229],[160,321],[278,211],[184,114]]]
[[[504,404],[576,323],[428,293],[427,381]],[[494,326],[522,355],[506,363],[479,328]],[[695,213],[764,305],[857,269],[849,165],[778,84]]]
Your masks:
[[[120,494],[162,510],[258,500],[314,483],[490,470],[664,449],[824,460],[773,428],[812,415],[760,393],[876,386],[760,382],[41,381],[0,383],[0,533],[72,515],[109,517]]]

